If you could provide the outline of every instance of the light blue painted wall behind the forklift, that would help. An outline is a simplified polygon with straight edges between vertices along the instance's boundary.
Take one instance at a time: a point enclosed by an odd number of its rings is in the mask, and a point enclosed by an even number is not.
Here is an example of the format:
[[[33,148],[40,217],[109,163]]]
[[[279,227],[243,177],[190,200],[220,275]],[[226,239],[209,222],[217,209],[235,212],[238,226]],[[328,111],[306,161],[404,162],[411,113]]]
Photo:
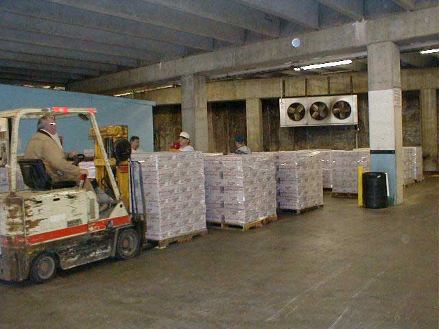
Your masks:
[[[143,151],[154,151],[152,126],[152,101],[71,93],[61,90],[46,90],[0,84],[0,110],[14,108],[96,108],[99,125],[128,125],[128,134],[141,139]],[[72,117],[58,120],[58,134],[64,138],[64,151],[82,151],[93,148],[88,140],[91,124]],[[27,141],[36,132],[36,120],[21,121],[19,154],[25,151]]]

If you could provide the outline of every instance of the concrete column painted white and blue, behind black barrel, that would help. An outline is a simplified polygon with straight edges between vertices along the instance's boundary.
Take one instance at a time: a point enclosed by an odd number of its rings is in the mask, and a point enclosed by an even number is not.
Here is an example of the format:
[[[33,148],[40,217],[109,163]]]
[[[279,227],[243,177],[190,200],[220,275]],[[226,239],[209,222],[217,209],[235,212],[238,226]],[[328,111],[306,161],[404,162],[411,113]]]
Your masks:
[[[369,138],[372,171],[388,173],[390,202],[403,202],[403,119],[399,49],[368,45]]]

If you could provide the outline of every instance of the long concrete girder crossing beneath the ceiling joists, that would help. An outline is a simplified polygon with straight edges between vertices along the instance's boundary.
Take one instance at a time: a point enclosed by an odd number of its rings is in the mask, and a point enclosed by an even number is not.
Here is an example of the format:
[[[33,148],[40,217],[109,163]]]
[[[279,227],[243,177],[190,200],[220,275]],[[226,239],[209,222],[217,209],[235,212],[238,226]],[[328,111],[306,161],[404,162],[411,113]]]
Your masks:
[[[420,38],[436,39],[439,31],[438,7],[434,9],[402,12],[298,34],[297,38],[302,40],[302,46],[298,48],[291,46],[291,38],[278,38],[75,82],[69,88],[85,93],[119,91],[190,74],[209,76],[317,58],[323,62],[329,56],[342,57],[363,52],[367,45],[384,41],[402,43]],[[403,29],[400,28],[401,22],[405,27]]]

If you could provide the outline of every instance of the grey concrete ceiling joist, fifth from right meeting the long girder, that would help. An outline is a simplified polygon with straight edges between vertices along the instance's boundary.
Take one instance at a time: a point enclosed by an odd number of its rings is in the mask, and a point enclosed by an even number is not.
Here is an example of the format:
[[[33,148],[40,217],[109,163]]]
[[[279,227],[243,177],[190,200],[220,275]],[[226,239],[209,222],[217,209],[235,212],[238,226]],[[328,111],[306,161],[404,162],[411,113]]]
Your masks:
[[[177,29],[178,31],[215,38],[237,45],[244,42],[244,29],[177,10],[170,10],[141,0],[50,0],[50,2]]]

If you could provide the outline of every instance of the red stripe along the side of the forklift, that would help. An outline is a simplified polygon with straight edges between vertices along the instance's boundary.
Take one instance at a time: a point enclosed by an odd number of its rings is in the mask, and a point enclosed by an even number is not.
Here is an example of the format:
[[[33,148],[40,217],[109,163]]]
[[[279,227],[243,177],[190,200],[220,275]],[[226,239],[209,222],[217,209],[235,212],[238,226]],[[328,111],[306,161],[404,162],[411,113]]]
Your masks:
[[[37,243],[43,243],[51,240],[67,238],[69,236],[84,234],[88,232],[95,232],[98,230],[104,230],[107,223],[112,221],[112,227],[121,226],[123,224],[131,223],[129,216],[115,217],[102,219],[101,221],[95,221],[84,225],[74,226],[73,228],[63,228],[62,230],[55,230],[40,234],[29,235],[26,237],[28,245],[35,245]]]

